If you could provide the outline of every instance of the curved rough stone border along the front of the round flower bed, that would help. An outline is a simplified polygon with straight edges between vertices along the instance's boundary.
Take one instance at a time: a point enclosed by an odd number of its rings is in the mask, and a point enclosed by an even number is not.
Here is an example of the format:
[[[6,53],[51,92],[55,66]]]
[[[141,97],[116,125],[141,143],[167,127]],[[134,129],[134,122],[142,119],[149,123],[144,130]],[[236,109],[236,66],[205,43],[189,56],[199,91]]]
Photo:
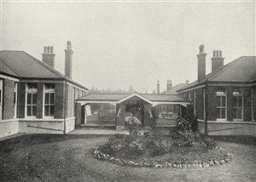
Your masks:
[[[182,162],[133,162],[130,160],[116,158],[113,156],[109,156],[108,154],[104,154],[99,151],[99,146],[94,147],[93,156],[99,160],[105,160],[109,162],[113,162],[115,164],[119,164],[122,166],[129,166],[129,167],[146,167],[146,168],[209,168],[214,166],[224,165],[231,161],[230,153],[224,155],[224,158],[220,160],[211,159],[208,162],[200,162],[195,161],[193,163],[182,163]]]

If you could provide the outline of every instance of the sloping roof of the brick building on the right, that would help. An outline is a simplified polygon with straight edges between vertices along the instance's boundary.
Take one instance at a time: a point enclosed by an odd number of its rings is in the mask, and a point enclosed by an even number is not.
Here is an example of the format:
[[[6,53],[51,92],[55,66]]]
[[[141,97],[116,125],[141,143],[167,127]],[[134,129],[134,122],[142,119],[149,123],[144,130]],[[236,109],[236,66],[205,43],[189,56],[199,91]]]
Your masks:
[[[201,82],[196,80],[177,91],[195,87],[207,80],[210,82],[253,82],[256,80],[256,56],[241,56],[212,71]]]

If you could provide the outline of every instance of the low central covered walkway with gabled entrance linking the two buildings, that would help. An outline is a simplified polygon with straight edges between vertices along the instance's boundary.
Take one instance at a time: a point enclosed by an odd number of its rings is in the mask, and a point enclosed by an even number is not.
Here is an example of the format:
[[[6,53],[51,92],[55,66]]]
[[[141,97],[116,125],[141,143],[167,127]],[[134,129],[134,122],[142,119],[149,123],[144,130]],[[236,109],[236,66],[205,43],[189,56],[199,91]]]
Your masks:
[[[165,112],[160,113],[165,115],[160,117],[164,121],[158,121],[161,126],[176,126],[176,118],[182,115],[182,110],[176,111],[173,105],[183,105],[183,108],[190,105],[189,100],[177,94],[88,94],[80,97],[77,102],[81,105],[78,108],[82,108],[81,124],[112,126],[117,130],[134,125],[141,128],[151,126],[154,108],[157,110],[159,105],[166,106]],[[167,117],[170,120],[166,120]]]

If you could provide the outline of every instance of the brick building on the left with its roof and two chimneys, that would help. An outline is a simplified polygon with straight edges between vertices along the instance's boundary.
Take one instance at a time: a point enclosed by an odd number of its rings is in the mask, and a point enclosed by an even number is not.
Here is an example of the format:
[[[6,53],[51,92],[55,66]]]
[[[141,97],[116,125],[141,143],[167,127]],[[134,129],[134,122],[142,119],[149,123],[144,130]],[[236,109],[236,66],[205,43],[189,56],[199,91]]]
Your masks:
[[[65,49],[65,75],[55,70],[54,48],[49,46],[42,61],[24,51],[3,50],[0,65],[0,137],[67,134],[75,128],[75,99],[88,89],[72,79],[71,42]]]

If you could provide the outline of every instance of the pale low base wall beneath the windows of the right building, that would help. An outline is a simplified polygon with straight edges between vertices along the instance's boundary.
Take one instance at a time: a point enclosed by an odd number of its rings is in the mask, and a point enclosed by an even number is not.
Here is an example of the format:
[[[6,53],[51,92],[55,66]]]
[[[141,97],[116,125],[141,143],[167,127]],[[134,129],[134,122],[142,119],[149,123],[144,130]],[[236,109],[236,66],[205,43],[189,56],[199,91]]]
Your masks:
[[[199,120],[198,130],[205,134],[205,121]],[[251,135],[256,137],[256,122],[207,122],[208,135]]]

